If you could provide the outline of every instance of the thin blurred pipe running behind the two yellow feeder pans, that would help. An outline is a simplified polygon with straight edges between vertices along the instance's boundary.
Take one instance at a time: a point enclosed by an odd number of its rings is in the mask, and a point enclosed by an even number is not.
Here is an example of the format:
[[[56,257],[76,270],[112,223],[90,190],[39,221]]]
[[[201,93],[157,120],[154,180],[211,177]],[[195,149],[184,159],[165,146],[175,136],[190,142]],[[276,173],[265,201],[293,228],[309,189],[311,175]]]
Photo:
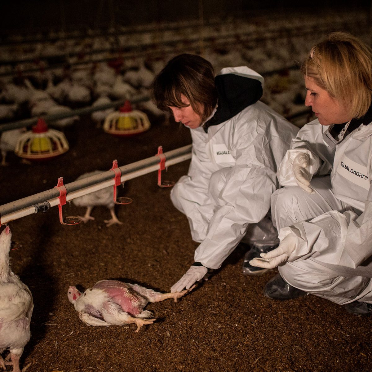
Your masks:
[[[140,102],[148,101],[149,99],[150,97],[148,96],[138,96],[138,97],[133,97],[132,99],[130,99],[130,101],[131,103],[140,103]],[[110,103],[105,103],[104,105],[87,106],[87,107],[83,107],[80,109],[71,110],[69,112],[42,115],[42,116],[30,118],[30,119],[13,121],[13,122],[1,124],[0,132],[9,131],[10,129],[23,128],[25,126],[34,125],[38,122],[39,118],[44,119],[45,122],[48,123],[51,121],[57,121],[57,120],[64,119],[64,118],[70,118],[71,116],[75,116],[75,115],[84,115],[84,114],[88,114],[94,111],[107,110],[113,107],[122,106],[124,105],[125,101],[126,100],[122,99],[122,100],[113,101]]]

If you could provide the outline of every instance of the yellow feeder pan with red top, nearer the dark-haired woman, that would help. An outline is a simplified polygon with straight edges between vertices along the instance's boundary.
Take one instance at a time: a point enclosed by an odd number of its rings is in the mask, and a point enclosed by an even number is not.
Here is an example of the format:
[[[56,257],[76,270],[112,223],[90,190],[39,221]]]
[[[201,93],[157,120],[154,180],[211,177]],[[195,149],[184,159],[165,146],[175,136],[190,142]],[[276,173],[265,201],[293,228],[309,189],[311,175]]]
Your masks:
[[[132,110],[131,103],[125,101],[119,111],[106,116],[103,130],[115,136],[129,137],[147,131],[150,126],[147,115],[142,111]]]

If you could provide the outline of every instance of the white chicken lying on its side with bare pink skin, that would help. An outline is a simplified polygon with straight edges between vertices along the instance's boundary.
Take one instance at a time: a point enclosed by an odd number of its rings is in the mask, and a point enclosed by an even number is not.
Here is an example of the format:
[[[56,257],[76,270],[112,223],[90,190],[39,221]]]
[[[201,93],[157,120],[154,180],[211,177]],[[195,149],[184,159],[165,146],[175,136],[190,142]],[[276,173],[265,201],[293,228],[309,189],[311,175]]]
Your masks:
[[[160,302],[167,298],[182,297],[195,286],[182,292],[160,293],[138,284],[124,283],[119,280],[100,280],[93,288],[83,294],[71,286],[67,296],[86,325],[123,325],[135,323],[138,332],[142,325],[152,324],[156,318],[151,311],[143,310],[148,302]]]

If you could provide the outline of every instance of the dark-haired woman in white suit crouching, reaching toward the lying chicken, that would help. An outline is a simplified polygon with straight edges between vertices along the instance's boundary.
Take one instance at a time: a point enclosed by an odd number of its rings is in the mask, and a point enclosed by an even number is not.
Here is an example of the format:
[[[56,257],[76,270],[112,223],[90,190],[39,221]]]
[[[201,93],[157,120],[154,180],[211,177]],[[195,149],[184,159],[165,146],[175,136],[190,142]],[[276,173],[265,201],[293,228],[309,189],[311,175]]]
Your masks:
[[[270,196],[279,187],[276,171],[298,129],[259,102],[262,87],[263,77],[248,67],[224,68],[215,77],[211,63],[192,54],[174,57],[154,80],[157,107],[170,110],[192,136],[189,172],[174,186],[171,200],[200,245],[195,263],[171,292],[218,269],[248,227],[269,212]],[[260,249],[270,246],[263,241]],[[259,256],[253,248],[248,252]],[[262,272],[245,269],[250,275]]]

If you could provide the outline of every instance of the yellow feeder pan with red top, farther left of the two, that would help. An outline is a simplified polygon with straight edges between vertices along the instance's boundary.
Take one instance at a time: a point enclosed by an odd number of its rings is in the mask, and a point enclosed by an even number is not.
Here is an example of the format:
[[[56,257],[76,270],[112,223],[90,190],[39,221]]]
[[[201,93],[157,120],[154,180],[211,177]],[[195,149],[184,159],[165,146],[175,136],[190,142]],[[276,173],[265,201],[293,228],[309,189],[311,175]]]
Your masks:
[[[65,153],[69,149],[65,135],[55,129],[48,129],[43,119],[32,127],[32,131],[22,134],[15,153],[29,160],[44,160]]]

